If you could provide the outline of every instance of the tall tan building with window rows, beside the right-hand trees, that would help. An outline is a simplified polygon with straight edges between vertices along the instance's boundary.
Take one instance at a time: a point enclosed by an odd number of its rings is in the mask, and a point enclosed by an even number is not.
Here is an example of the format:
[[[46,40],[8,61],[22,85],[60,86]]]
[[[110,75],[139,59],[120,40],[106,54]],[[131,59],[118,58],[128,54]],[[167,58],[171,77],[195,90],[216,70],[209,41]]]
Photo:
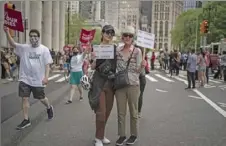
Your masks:
[[[155,34],[155,48],[171,48],[171,29],[176,18],[184,9],[184,1],[152,1],[152,33]]]

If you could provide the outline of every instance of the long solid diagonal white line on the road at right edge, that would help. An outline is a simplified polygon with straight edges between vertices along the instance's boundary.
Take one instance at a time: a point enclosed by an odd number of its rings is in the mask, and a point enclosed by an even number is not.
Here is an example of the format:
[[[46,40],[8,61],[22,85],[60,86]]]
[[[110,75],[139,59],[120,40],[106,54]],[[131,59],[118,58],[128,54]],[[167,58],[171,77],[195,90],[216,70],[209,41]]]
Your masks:
[[[186,80],[184,80],[184,83],[187,85]],[[202,99],[204,99],[210,106],[212,106],[216,111],[218,111],[223,117],[226,118],[226,111],[224,111],[222,108],[220,108],[216,103],[211,101],[208,97],[206,97],[204,94],[202,94],[197,89],[193,89],[193,91],[198,94]]]

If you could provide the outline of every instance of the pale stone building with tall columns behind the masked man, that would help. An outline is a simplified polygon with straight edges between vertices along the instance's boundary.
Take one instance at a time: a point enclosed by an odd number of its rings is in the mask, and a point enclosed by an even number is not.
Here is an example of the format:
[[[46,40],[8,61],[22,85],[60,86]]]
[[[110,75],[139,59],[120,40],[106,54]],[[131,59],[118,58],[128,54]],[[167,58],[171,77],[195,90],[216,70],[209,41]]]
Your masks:
[[[29,43],[29,31],[37,29],[41,43],[49,49],[61,50],[65,45],[65,3],[59,1],[11,1],[22,12],[25,31],[15,32],[19,43]],[[4,24],[4,4],[0,2],[0,26]],[[3,29],[0,29],[0,47],[9,47]]]

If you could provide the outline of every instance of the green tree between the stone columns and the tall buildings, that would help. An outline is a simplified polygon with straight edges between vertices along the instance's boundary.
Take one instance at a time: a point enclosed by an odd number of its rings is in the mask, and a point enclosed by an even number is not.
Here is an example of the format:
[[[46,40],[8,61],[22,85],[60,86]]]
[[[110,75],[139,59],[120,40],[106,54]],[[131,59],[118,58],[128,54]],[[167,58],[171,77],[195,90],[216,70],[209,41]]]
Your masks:
[[[75,44],[79,40],[80,31],[84,26],[85,19],[79,14],[73,14],[68,24],[68,15],[65,17],[65,44],[68,44],[68,27],[69,27],[69,44]]]

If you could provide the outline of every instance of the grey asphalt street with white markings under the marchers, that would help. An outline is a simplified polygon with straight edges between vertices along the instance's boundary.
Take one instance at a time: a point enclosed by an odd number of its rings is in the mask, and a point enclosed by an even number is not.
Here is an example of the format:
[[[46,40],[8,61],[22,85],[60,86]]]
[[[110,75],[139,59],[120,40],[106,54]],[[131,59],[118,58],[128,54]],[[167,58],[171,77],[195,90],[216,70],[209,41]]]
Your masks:
[[[55,76],[56,74],[60,73],[54,73]],[[54,96],[59,93],[64,93],[59,102],[54,104],[56,117],[52,121],[47,121],[45,114],[35,118],[37,111],[43,110],[41,104],[35,103],[31,106],[30,114],[33,120],[30,128],[24,131],[14,129],[21,120],[21,114],[5,121],[2,126],[10,125],[5,128],[6,130],[11,130],[11,133],[16,131],[16,136],[12,138],[14,141],[13,143],[11,141],[10,146],[92,145],[95,117],[88,105],[88,99],[65,105],[68,95],[65,91],[68,86],[64,81],[56,83],[60,78],[62,77],[52,79],[50,85],[47,86],[47,92],[56,92],[49,95],[47,93],[50,99],[54,99]],[[222,89],[224,87],[222,85],[225,84],[212,80],[213,82],[210,82],[214,86],[212,88],[185,91],[185,80],[184,75],[170,78],[158,71],[151,72],[147,76],[142,118],[139,122],[140,136],[135,146],[226,145],[226,106],[223,104],[226,103],[226,89]],[[66,88],[63,89],[65,86]],[[53,91],[56,89],[59,90]],[[86,95],[87,93],[85,97]],[[14,98],[17,99],[17,96]],[[127,123],[129,136],[129,121]],[[3,131],[2,139],[5,138],[4,136],[10,136],[11,133],[4,134]],[[115,145],[117,139],[116,106],[109,119],[106,136],[112,141],[109,146]]]

